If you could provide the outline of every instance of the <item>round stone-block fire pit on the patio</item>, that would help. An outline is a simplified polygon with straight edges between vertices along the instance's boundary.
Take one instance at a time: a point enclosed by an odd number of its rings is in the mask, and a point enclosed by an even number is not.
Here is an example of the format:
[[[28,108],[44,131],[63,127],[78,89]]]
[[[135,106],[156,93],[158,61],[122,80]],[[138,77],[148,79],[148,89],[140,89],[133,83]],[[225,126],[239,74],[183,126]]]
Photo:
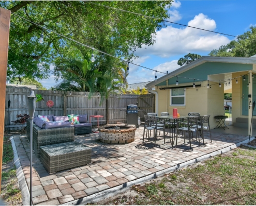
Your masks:
[[[111,125],[98,128],[101,142],[109,144],[125,144],[134,141],[136,128],[132,126]]]

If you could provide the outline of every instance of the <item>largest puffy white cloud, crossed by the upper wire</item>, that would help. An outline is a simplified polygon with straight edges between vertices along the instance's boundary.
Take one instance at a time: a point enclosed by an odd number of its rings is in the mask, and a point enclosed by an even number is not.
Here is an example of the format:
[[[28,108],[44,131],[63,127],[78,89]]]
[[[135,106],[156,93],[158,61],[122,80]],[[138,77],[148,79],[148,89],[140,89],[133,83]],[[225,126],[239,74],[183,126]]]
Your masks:
[[[216,23],[207,15],[200,13],[188,22],[189,26],[215,30]],[[190,27],[174,28],[167,26],[156,32],[156,43],[147,49],[138,49],[137,55],[156,55],[170,57],[188,53],[210,52],[230,42],[227,37],[213,32],[203,31]],[[145,48],[145,46],[142,46]]]

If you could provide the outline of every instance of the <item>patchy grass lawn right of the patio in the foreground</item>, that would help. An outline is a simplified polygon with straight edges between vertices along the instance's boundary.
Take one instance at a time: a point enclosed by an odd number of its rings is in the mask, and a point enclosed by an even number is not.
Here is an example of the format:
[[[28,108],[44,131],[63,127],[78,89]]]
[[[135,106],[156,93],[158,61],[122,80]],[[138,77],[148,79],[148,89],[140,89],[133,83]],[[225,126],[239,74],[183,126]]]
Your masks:
[[[256,205],[255,158],[256,149],[242,146],[96,204]]]

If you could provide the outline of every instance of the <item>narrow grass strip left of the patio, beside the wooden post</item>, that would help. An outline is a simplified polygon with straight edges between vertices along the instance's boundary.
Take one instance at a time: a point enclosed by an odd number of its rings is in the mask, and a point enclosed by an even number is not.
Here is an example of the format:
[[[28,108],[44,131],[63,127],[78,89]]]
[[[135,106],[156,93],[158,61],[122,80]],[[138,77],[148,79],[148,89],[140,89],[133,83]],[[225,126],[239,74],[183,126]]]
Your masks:
[[[4,136],[1,185],[1,198],[6,205],[22,205],[21,191],[16,178],[16,166],[13,163],[13,150],[8,136]]]

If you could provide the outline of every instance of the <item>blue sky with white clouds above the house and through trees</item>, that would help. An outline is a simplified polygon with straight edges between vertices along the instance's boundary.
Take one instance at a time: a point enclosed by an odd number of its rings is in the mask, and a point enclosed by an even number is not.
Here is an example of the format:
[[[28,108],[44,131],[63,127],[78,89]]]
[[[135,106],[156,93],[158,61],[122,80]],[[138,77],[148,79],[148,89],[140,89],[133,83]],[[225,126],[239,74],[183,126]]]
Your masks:
[[[250,26],[256,26],[255,8],[255,0],[175,1],[168,12],[171,22],[237,36],[248,31]],[[133,62],[170,73],[180,67],[177,65],[180,57],[188,53],[206,56],[234,38],[167,23],[166,28],[157,31],[155,40],[154,46],[138,49],[135,54],[141,58]],[[155,78],[153,71],[134,65],[129,67],[128,83],[153,81]],[[163,74],[157,73],[158,78],[161,76]],[[48,89],[56,84],[53,76],[39,82]]]

